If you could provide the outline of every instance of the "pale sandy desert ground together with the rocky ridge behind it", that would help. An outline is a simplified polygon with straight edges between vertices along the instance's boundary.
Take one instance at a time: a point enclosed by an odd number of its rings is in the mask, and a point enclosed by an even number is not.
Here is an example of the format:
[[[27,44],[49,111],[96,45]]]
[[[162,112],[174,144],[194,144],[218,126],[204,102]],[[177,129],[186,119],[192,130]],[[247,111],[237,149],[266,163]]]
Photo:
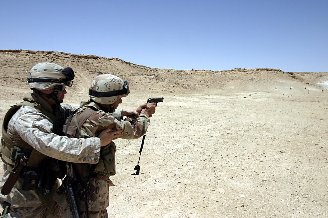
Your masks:
[[[0,50],[1,123],[30,93],[27,73],[39,62],[73,68],[65,103],[88,100],[92,79],[106,73],[130,82],[121,108],[164,98],[139,175],[131,173],[141,138],[115,140],[110,217],[328,216],[328,72],[156,69],[94,55]]]

